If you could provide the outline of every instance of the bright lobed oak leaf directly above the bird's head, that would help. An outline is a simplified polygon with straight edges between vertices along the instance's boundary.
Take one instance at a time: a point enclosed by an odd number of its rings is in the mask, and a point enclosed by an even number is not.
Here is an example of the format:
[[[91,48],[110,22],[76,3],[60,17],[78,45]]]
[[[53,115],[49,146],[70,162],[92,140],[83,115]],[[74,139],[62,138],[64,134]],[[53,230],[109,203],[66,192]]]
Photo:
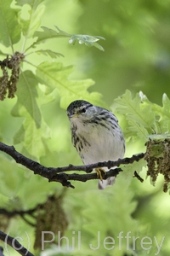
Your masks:
[[[66,108],[71,101],[76,99],[86,99],[102,104],[99,93],[88,92],[88,87],[93,85],[94,81],[92,79],[69,80],[68,76],[72,71],[72,66],[63,67],[61,63],[46,61],[37,67],[37,78],[41,84],[48,86],[47,93],[55,89],[59,90],[62,108]]]

